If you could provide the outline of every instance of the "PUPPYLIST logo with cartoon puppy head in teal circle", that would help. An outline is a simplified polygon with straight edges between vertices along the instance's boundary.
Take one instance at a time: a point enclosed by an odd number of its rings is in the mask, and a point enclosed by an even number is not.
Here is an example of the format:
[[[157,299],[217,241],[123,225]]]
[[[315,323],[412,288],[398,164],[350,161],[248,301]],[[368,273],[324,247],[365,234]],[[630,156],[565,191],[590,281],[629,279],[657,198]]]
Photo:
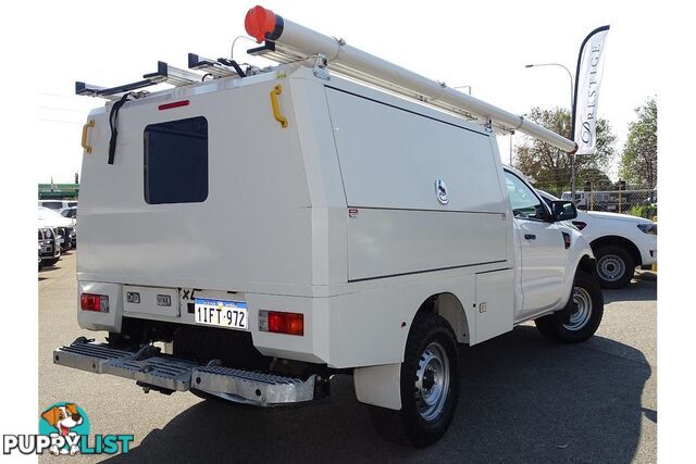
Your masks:
[[[51,404],[40,414],[38,435],[5,435],[2,453],[115,454],[130,450],[133,435],[89,435],[89,418],[75,403]]]

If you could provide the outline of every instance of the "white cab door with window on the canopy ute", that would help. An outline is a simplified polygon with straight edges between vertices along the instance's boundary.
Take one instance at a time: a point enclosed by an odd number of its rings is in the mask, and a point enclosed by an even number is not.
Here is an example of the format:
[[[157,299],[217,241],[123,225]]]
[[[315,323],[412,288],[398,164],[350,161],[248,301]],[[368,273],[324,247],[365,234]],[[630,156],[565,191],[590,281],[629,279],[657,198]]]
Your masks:
[[[522,313],[555,306],[563,293],[567,251],[563,234],[534,190],[506,171],[506,184],[514,214],[521,255]]]

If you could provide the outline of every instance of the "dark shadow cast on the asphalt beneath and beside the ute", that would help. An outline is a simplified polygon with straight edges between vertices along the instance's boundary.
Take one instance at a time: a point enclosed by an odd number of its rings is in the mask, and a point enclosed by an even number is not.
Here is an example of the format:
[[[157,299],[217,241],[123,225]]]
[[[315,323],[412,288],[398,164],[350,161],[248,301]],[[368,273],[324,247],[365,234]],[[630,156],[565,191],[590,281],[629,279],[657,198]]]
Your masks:
[[[650,376],[645,358],[606,338],[559,346],[522,326],[463,347],[461,364],[455,421],[426,450],[382,441],[355,400],[351,378],[337,376],[327,404],[197,403],[110,461],[630,462],[643,414],[657,419],[641,405]]]

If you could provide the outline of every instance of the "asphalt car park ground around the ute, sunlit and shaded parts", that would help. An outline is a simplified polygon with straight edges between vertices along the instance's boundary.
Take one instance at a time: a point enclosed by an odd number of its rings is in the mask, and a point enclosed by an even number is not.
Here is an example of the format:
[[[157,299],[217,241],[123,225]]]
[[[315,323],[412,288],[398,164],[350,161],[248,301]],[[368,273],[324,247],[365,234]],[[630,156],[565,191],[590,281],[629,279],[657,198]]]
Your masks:
[[[639,273],[605,291],[605,317],[585,343],[554,344],[533,327],[462,347],[452,426],[431,448],[383,441],[352,380],[337,376],[325,403],[257,409],[190,393],[145,394],[134,381],[53,365],[80,335],[76,251],[39,272],[39,404],[77,403],[90,435],[133,434],[126,462],[655,462],[657,460],[657,279]],[[54,459],[45,455],[41,460]],[[82,461],[80,460],[80,461]]]

